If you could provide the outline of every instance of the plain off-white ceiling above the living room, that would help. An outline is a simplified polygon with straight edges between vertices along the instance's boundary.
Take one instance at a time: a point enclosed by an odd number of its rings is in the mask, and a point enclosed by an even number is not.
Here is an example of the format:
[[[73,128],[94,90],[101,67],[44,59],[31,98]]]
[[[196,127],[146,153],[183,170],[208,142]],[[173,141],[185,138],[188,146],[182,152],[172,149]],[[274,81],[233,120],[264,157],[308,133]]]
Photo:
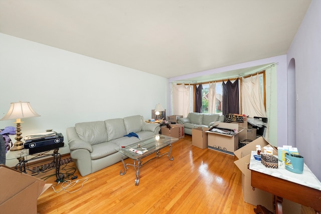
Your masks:
[[[310,2],[0,0],[0,32],[172,78],[286,54]]]

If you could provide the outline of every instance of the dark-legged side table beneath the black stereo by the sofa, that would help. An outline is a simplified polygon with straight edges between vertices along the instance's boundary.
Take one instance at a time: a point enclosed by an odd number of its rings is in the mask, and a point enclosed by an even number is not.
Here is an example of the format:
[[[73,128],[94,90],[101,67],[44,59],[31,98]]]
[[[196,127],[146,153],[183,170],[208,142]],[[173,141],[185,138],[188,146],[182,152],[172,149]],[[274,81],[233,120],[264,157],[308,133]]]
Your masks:
[[[50,152],[52,150],[53,150],[53,153],[48,154],[48,152]],[[36,153],[36,154],[29,154],[29,149],[10,151],[10,153],[8,154],[6,159],[11,160],[11,159],[17,158],[19,162],[16,164],[15,169],[19,169],[21,172],[24,172],[24,173],[27,173],[26,170],[29,170],[29,171],[39,174],[40,172],[45,172],[49,166],[54,166],[54,168],[56,170],[56,172],[55,172],[56,178],[60,179],[59,171],[60,171],[61,154],[58,152],[58,150],[59,150],[59,148],[55,148],[55,149],[50,149],[48,151],[44,151],[44,152],[40,152],[40,153]],[[29,160],[28,159],[26,160],[25,157],[29,156],[29,155],[33,156],[33,157],[30,158]],[[48,157],[48,156],[53,156],[53,160],[47,167],[40,169],[38,171],[26,168],[26,163],[28,163],[28,161],[36,160],[36,159]]]

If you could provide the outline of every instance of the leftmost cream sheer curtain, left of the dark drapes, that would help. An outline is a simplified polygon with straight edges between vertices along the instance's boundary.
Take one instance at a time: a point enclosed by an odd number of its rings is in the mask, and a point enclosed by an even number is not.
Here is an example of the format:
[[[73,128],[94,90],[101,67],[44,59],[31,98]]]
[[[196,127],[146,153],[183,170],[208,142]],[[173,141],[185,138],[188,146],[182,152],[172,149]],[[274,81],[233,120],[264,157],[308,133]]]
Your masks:
[[[191,112],[190,86],[184,84],[172,84],[173,88],[173,111],[175,115],[187,115]]]

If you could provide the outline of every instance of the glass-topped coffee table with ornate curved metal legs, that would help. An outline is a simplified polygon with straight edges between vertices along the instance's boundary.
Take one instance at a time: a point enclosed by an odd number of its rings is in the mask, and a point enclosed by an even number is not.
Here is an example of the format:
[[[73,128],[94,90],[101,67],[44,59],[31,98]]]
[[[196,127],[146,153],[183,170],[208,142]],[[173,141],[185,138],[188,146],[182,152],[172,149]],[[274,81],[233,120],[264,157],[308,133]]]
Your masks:
[[[135,178],[135,185],[137,186],[139,184],[139,169],[144,164],[148,163],[150,160],[161,157],[163,155],[167,155],[170,160],[174,160],[174,157],[171,157],[171,151],[172,151],[172,143],[178,141],[178,138],[169,137],[166,135],[157,134],[153,137],[147,138],[145,140],[138,141],[134,144],[130,144],[127,146],[122,146],[118,152],[122,154],[121,161],[124,165],[124,171],[120,170],[119,174],[124,175],[126,173],[126,169],[128,168],[128,165],[131,165],[135,169],[136,178]],[[169,146],[170,150],[168,152],[165,152],[161,154],[159,150]],[[154,157],[148,159],[142,164],[141,159],[144,157],[147,157],[153,153],[156,153]],[[125,164],[124,159],[126,157],[129,157],[130,159],[134,160],[133,164]]]

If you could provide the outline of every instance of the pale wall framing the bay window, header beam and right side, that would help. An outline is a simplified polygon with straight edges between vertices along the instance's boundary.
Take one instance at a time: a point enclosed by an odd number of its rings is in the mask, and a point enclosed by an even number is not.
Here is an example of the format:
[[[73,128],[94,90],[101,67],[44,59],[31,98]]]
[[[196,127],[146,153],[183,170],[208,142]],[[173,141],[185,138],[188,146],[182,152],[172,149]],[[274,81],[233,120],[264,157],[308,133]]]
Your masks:
[[[275,67],[266,69],[266,113],[269,123],[268,141],[273,146],[287,144],[287,102],[286,102],[286,56],[271,57],[231,66],[226,66],[208,71],[193,73],[169,79],[169,86],[174,81],[180,81],[193,77],[228,72],[243,68],[250,68],[270,63],[277,63]],[[171,100],[168,100],[171,105]],[[171,114],[171,113],[170,113]]]

